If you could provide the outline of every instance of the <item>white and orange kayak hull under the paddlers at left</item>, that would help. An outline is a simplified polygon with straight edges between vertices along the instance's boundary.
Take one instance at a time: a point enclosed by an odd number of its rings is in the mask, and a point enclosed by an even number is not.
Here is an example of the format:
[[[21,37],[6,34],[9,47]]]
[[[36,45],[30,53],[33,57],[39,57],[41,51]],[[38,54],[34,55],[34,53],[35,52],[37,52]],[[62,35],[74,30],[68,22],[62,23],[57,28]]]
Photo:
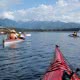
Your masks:
[[[23,42],[24,39],[15,39],[15,40],[3,40],[3,47],[9,47],[13,44]]]

